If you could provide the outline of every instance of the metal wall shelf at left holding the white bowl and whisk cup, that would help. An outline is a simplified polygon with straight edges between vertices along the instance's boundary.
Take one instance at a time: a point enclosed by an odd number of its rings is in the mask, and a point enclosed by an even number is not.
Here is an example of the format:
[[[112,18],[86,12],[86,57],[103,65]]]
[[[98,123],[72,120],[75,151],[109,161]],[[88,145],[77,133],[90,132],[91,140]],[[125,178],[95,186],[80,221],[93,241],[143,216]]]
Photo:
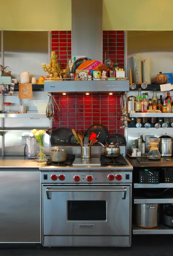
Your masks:
[[[26,114],[0,114],[0,118],[46,118],[46,113],[26,113]]]

